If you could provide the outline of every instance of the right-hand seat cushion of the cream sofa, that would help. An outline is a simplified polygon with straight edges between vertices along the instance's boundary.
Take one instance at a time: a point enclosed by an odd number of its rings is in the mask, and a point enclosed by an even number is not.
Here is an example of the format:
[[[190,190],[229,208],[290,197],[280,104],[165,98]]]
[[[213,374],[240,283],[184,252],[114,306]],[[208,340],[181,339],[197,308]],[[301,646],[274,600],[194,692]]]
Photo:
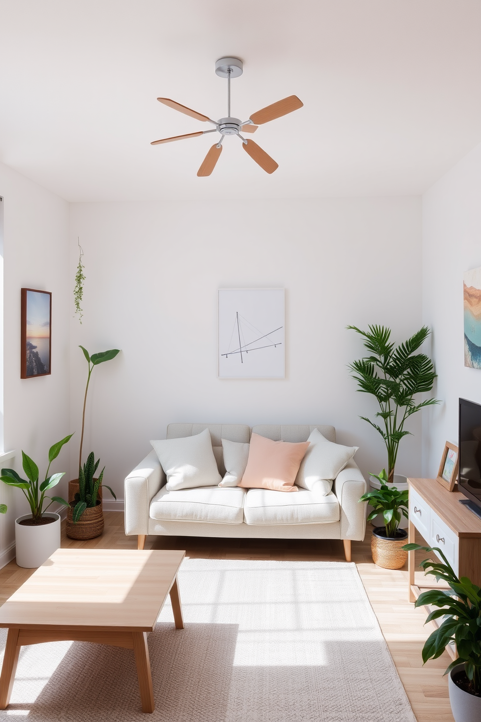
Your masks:
[[[339,503],[330,492],[319,495],[306,489],[285,494],[270,489],[250,489],[244,501],[246,524],[327,524],[339,521]]]

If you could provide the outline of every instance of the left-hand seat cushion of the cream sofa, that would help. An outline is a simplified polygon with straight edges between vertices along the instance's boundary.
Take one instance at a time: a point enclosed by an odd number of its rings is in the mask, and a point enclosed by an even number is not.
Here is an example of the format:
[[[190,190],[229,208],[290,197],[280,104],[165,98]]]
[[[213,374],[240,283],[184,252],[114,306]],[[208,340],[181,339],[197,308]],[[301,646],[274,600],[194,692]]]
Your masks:
[[[202,487],[169,491],[162,487],[150,505],[150,517],[162,521],[211,521],[216,524],[242,524],[244,497],[239,487]]]

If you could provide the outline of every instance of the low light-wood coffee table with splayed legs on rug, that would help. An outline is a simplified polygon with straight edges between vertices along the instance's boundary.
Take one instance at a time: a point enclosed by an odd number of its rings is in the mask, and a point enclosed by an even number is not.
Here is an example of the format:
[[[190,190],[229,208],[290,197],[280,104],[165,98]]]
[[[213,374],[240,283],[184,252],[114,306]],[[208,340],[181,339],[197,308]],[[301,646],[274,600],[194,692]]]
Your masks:
[[[133,649],[143,712],[154,692],[147,632],[170,593],[183,629],[177,572],[185,552],[58,549],[0,607],[8,627],[0,676],[0,709],[9,703],[20,647],[74,640]]]

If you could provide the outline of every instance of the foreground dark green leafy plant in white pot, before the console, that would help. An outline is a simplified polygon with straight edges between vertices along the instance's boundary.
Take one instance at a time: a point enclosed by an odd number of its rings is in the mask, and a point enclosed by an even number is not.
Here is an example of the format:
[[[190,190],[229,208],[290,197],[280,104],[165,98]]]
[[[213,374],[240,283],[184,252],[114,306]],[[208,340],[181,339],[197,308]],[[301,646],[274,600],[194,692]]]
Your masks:
[[[452,595],[442,589],[430,589],[420,594],[415,606],[436,606],[426,622],[443,619],[423,647],[423,662],[441,656],[450,642],[456,643],[458,658],[444,674],[449,674],[449,701],[455,722],[480,722],[481,720],[481,588],[467,577],[458,578],[444,553],[438,547],[421,547],[406,544],[406,552],[423,549],[436,552],[438,560],[425,559],[420,567],[425,574],[449,584]]]

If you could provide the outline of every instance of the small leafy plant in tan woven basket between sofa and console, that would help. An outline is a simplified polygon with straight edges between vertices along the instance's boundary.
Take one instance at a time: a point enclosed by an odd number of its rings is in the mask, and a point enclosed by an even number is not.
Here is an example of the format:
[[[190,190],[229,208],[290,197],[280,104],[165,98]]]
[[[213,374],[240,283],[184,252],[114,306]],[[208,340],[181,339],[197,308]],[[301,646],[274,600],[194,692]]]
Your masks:
[[[407,552],[402,547],[407,539],[407,531],[400,529],[402,517],[408,517],[409,492],[400,491],[387,485],[386,469],[381,474],[373,474],[381,484],[361,496],[360,502],[369,502],[372,511],[368,521],[381,515],[384,526],[376,526],[371,536],[371,552],[374,564],[384,569],[400,569],[407,561]]]

